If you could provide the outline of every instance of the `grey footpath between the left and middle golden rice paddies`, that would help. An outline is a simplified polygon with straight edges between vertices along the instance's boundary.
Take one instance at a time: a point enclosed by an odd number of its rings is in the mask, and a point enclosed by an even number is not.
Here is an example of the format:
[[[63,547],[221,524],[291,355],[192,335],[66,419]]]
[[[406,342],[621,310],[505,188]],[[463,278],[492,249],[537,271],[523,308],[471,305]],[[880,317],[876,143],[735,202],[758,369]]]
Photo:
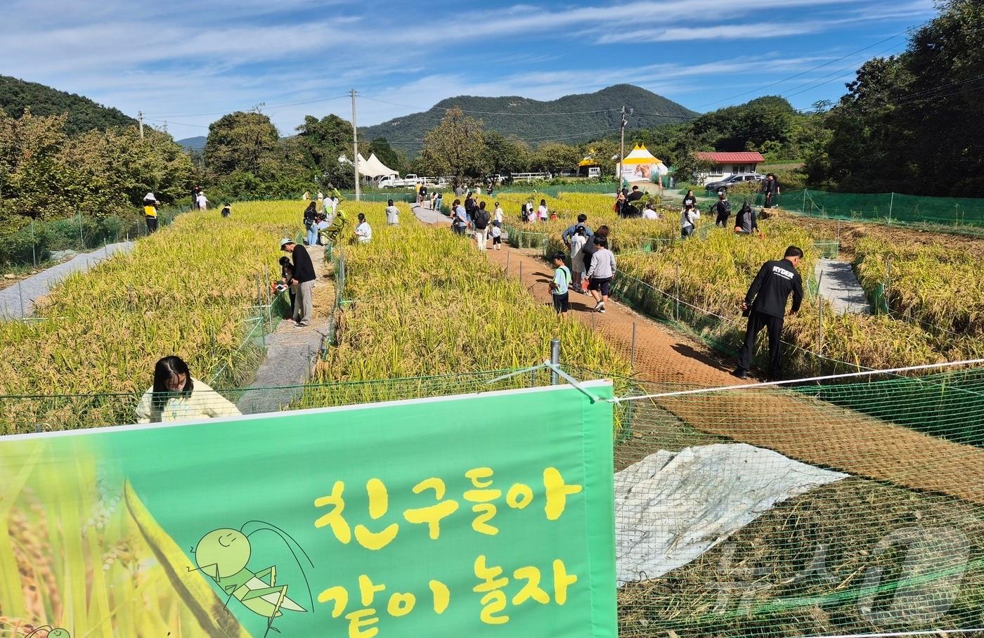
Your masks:
[[[332,264],[325,261],[323,246],[306,247],[314,264],[315,283],[312,295],[311,325],[295,327],[290,319],[282,319],[277,329],[267,335],[267,355],[256,372],[249,389],[242,393],[236,407],[243,414],[277,412],[300,397],[299,386],[308,380],[322,344],[328,336],[332,309],[335,305],[335,280]],[[277,388],[277,389],[269,389]]]

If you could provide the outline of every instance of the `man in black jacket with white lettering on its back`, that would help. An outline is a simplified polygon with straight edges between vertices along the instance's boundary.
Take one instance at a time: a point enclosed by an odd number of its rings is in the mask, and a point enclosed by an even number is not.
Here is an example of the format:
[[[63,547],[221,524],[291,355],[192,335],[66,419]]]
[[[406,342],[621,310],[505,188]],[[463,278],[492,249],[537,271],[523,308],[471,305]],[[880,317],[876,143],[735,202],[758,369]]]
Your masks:
[[[803,251],[790,246],[782,260],[766,261],[759,269],[759,274],[755,275],[755,281],[741,305],[743,313],[748,315],[748,329],[745,332],[745,344],[738,351],[738,370],[734,372],[735,377],[748,378],[752,355],[755,354],[755,339],[763,327],[769,330],[769,380],[778,377],[779,335],[782,332],[782,319],[786,314],[789,293],[793,295],[790,314],[798,312],[803,302],[803,279],[796,271],[802,258]]]

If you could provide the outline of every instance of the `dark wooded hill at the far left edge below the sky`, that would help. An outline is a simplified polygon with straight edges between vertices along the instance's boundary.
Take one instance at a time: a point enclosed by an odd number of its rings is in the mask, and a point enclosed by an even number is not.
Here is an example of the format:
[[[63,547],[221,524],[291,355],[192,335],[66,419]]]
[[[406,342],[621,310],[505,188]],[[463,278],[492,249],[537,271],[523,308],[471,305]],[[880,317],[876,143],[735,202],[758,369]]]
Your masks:
[[[102,106],[88,97],[0,76],[0,109],[17,118],[28,108],[32,115],[68,115],[64,126],[64,132],[68,135],[137,123],[119,109]]]

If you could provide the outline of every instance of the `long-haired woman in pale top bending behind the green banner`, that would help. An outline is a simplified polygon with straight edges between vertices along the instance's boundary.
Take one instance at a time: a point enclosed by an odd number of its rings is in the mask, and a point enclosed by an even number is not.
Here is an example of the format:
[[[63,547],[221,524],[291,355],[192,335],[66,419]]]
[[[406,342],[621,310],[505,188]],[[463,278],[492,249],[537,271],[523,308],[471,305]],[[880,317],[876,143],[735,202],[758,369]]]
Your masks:
[[[169,423],[238,417],[239,410],[206,383],[193,378],[188,364],[164,357],[154,366],[154,385],[137,404],[137,423]]]

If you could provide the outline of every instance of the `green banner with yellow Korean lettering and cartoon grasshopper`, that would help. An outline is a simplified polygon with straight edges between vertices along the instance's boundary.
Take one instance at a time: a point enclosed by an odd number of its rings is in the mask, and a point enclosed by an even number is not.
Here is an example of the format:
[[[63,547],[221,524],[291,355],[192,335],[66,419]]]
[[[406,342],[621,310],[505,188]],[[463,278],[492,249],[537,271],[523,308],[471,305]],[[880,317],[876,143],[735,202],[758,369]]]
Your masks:
[[[566,385],[7,436],[0,636],[614,637],[612,483]]]

